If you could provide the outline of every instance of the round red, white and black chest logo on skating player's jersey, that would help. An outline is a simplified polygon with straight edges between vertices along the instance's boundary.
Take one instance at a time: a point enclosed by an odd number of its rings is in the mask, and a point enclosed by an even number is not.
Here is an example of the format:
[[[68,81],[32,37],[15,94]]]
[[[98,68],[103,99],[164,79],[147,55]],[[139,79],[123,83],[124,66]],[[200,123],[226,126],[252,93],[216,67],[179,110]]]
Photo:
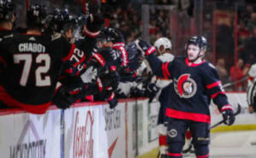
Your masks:
[[[197,86],[190,74],[183,74],[178,80],[174,79],[174,89],[180,98],[190,98],[196,93]]]

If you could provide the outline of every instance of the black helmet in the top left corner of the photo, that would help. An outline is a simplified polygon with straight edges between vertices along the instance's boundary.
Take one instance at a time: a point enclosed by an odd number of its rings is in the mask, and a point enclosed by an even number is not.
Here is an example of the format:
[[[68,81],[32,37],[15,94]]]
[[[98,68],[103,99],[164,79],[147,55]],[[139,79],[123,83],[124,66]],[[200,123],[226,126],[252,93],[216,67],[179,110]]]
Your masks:
[[[0,0],[0,20],[11,20],[15,5],[11,0]]]

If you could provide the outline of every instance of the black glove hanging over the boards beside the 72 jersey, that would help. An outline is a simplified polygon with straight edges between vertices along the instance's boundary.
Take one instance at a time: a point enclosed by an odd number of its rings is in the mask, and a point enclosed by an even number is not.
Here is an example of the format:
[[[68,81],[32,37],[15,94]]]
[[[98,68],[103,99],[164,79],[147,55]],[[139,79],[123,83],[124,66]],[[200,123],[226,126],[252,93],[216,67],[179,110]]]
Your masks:
[[[58,92],[53,96],[52,102],[59,109],[67,109],[76,100],[69,94],[69,88],[67,86],[61,86]]]

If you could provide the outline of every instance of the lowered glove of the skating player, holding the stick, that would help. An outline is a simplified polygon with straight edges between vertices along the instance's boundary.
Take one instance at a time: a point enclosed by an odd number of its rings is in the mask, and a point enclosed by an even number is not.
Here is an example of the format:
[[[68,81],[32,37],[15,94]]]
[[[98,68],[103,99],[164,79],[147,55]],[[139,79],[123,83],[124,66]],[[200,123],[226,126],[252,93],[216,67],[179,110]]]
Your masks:
[[[221,113],[223,120],[225,121],[224,123],[228,126],[231,126],[235,122],[235,115],[233,112],[233,108],[230,105],[223,106],[221,108]]]

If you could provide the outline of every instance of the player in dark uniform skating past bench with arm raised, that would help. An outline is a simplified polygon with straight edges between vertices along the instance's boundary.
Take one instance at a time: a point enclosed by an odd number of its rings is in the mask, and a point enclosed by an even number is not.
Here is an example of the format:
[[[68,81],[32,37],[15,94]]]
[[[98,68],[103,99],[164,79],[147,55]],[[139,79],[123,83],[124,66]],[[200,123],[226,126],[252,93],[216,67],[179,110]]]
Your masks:
[[[222,89],[215,67],[202,58],[207,41],[202,36],[188,39],[187,57],[175,57],[172,62],[162,62],[155,56],[155,48],[148,42],[136,40],[137,47],[146,56],[153,73],[159,77],[171,78],[174,86],[169,95],[165,116],[167,123],[168,157],[182,157],[185,134],[189,128],[197,157],[209,157],[210,143],[210,100],[222,112],[225,124],[235,121],[232,106]]]

